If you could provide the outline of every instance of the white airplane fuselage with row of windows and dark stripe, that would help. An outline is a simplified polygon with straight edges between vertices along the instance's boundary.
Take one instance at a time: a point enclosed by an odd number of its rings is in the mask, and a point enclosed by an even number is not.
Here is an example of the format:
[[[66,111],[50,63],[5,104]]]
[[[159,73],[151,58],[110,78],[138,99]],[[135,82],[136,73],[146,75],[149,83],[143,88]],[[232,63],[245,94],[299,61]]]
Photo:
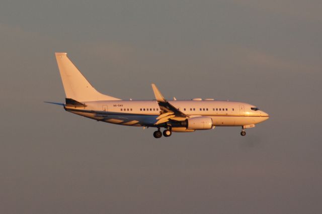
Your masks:
[[[220,100],[169,100],[178,110],[193,117],[209,117],[213,126],[248,126],[269,119],[263,111],[254,111],[254,105]],[[112,100],[84,102],[87,106],[65,110],[77,115],[125,126],[157,127],[160,108],[156,100]]]

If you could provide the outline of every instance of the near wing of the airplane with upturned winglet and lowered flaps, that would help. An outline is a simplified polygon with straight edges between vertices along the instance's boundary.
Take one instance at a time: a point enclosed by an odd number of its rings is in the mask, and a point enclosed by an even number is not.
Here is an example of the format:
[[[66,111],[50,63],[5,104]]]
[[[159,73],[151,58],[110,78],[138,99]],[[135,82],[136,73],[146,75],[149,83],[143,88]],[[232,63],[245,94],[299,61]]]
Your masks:
[[[158,120],[155,125],[166,123],[169,120],[182,120],[185,118],[189,118],[186,114],[178,110],[175,106],[173,106],[170,102],[168,102],[165,97],[161,94],[159,89],[155,86],[155,84],[151,84],[154,92],[154,96],[156,101],[158,102],[161,110],[161,115],[156,118]],[[175,119],[176,118],[176,119]]]

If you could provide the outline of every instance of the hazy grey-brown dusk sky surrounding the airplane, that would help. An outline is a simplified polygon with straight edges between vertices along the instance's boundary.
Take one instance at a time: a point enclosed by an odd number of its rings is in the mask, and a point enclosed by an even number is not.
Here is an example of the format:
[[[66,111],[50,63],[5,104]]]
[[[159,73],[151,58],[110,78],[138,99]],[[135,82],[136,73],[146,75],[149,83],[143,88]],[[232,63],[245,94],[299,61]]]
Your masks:
[[[322,2],[0,3],[1,213],[321,213]],[[174,133],[64,101],[54,52],[122,99],[245,101],[271,118]]]

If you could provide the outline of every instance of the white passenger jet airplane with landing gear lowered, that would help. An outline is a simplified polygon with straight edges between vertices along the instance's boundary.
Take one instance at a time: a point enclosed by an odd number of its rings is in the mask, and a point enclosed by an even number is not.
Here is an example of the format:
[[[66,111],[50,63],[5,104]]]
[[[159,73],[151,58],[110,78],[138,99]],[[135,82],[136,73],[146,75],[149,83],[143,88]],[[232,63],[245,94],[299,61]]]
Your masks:
[[[246,129],[269,119],[269,115],[255,105],[245,102],[194,98],[191,100],[167,100],[152,85],[154,100],[122,100],[98,92],[67,57],[67,53],[55,53],[58,69],[66,94],[64,110],[93,120],[149,128],[154,138],[170,137],[173,132],[195,132],[217,127],[241,127]],[[160,131],[164,128],[163,133]]]

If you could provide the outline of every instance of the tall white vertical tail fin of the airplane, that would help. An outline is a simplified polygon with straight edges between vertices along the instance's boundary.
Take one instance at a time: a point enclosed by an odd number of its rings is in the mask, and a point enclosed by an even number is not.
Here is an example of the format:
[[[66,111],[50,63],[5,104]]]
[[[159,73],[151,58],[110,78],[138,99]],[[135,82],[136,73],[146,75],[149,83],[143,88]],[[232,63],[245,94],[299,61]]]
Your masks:
[[[98,92],[68,59],[67,53],[55,53],[66,98],[77,101],[120,100]]]

